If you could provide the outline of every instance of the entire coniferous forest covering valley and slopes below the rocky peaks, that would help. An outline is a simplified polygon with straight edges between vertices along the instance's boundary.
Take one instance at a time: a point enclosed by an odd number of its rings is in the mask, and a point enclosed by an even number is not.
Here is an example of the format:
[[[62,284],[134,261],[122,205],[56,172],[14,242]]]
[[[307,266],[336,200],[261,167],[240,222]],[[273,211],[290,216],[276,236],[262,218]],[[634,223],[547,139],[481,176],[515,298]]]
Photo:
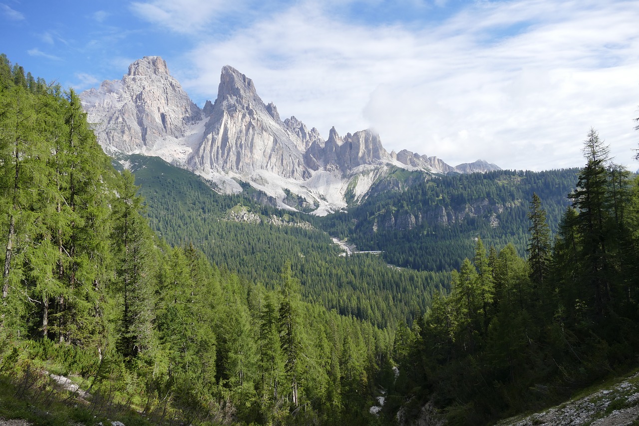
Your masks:
[[[0,417],[477,425],[636,368],[639,182],[594,129],[583,154],[395,171],[316,218],[153,159],[116,170],[77,94],[2,55]]]

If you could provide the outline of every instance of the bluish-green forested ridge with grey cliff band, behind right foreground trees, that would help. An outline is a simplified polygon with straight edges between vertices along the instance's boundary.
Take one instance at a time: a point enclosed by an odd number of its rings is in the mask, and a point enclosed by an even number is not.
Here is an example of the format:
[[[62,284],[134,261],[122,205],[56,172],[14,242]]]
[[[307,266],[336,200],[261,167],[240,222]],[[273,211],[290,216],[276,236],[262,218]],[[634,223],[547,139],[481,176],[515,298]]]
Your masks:
[[[533,193],[556,233],[578,173],[500,170],[432,176],[398,169],[378,182],[361,205],[323,217],[319,226],[362,250],[383,251],[390,264],[450,271],[472,256],[477,237],[488,246],[512,243],[523,256]]]

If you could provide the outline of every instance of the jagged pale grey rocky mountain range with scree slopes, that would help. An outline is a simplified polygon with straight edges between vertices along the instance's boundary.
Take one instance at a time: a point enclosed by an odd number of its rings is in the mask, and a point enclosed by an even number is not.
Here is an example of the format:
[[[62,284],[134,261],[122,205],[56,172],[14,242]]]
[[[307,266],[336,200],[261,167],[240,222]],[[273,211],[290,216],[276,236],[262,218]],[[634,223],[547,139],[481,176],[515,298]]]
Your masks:
[[[220,192],[239,193],[247,182],[286,209],[311,206],[319,216],[360,201],[394,168],[427,173],[500,170],[485,161],[449,166],[437,157],[387,152],[378,134],[360,130],[327,140],[295,116],[282,121],[253,81],[222,68],[215,102],[200,109],[169,73],[166,61],[146,56],[119,81],[81,93],[98,142],[112,156],[144,154],[187,168]],[[347,197],[348,194],[348,197]],[[299,202],[291,205],[287,199]]]

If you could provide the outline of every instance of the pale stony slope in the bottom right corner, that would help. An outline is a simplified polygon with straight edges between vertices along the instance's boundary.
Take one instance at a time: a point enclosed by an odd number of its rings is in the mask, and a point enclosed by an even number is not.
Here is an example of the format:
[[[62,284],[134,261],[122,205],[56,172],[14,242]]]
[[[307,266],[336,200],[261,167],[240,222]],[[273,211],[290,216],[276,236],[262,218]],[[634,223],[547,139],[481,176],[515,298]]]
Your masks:
[[[540,413],[518,416],[497,426],[639,425],[639,373],[585,397]]]

